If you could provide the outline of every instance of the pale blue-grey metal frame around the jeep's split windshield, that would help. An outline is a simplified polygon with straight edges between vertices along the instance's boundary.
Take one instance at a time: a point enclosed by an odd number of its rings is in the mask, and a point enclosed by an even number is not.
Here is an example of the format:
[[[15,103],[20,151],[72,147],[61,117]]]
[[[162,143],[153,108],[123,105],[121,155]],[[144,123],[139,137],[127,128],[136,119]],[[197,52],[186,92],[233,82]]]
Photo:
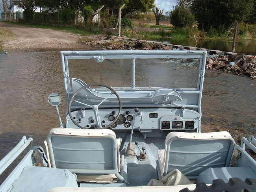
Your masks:
[[[136,90],[158,90],[158,89],[175,89],[175,90],[200,90],[202,88],[202,77],[205,69],[206,51],[62,51],[61,61],[63,68],[63,80],[65,92],[72,91],[69,79],[69,59],[132,59],[132,86],[131,87],[113,87],[116,91],[136,91]],[[200,59],[198,66],[197,87],[135,87],[135,65],[136,59]],[[98,62],[100,63],[100,62]],[[185,77],[186,78],[186,77]],[[99,88],[98,91],[105,89]]]

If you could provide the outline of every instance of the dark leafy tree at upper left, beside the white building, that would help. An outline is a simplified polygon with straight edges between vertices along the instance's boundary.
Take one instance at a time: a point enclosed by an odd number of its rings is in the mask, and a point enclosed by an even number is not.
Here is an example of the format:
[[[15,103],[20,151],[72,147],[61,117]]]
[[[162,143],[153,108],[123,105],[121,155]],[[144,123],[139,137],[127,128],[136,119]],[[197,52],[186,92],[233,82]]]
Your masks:
[[[32,22],[33,12],[36,9],[35,0],[13,0],[12,3],[24,9],[23,18],[25,22]]]

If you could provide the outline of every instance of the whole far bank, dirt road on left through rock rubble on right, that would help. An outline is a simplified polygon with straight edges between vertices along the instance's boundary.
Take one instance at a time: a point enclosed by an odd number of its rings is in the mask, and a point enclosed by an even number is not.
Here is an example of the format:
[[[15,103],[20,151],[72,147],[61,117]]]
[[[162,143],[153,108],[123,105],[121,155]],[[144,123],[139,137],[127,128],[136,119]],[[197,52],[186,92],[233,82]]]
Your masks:
[[[0,41],[4,50],[32,49],[44,50],[47,48],[95,49],[102,50],[207,50],[193,46],[173,45],[155,41],[131,39],[128,37],[92,35],[87,31],[82,34],[52,30],[49,28],[32,28],[19,24],[0,22]],[[236,75],[246,75],[256,79],[256,57],[252,55],[230,55],[218,50],[207,50],[207,69],[222,70]],[[225,55],[227,54],[227,55]]]

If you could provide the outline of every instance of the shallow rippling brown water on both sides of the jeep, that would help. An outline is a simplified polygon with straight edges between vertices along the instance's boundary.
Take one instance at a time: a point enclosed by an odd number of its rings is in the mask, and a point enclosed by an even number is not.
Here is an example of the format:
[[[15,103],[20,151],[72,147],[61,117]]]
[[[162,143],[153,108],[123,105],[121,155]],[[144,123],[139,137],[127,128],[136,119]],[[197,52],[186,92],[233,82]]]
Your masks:
[[[256,81],[246,76],[206,70],[202,96],[202,131],[228,130],[236,141],[256,135]],[[48,95],[64,93],[59,51],[13,50],[0,53],[0,159],[23,135],[43,145],[46,134],[58,127]]]

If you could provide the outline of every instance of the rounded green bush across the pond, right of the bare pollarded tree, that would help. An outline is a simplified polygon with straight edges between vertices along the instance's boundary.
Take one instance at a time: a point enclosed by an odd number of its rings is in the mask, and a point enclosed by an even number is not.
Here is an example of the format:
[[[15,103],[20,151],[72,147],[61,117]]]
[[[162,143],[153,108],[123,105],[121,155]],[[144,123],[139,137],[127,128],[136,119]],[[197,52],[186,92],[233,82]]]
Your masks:
[[[171,24],[176,28],[192,27],[195,23],[195,17],[187,9],[176,6],[170,14]]]

